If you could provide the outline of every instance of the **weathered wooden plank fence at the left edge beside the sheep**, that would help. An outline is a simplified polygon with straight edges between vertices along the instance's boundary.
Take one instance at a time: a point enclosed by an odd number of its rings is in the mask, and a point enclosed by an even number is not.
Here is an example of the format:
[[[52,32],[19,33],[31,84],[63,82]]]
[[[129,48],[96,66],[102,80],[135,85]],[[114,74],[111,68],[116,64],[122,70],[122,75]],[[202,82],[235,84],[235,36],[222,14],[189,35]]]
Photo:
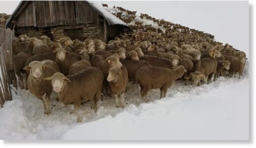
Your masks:
[[[11,84],[17,86],[12,65],[14,31],[0,27],[0,106],[12,99]]]

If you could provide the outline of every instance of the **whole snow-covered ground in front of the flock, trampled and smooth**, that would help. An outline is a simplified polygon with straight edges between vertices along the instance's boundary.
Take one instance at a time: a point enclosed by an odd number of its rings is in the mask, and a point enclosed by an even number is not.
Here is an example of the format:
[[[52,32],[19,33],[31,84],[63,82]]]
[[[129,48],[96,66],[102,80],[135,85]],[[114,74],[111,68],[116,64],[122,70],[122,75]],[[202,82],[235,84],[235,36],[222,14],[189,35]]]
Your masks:
[[[149,92],[149,103],[140,99],[139,86],[126,93],[125,109],[115,107],[113,98],[103,98],[97,114],[91,102],[81,105],[84,120],[69,113],[52,96],[52,113],[43,114],[39,101],[28,91],[0,108],[0,139],[249,139],[249,67],[241,79],[220,77],[201,86],[178,80],[167,97],[159,90]]]

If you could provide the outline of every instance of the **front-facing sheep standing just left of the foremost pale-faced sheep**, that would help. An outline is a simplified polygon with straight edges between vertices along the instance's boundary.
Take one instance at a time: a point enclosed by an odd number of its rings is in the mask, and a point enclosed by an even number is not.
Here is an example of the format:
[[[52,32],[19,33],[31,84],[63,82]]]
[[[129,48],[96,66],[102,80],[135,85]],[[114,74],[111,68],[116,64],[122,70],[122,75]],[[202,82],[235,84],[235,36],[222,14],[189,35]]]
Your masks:
[[[42,62],[33,61],[29,66],[24,67],[24,69],[30,71],[28,88],[31,94],[42,103],[44,113],[50,114],[52,87],[51,82],[44,80],[44,78],[59,72],[59,67],[51,60],[44,60]],[[43,97],[44,95],[45,97]]]

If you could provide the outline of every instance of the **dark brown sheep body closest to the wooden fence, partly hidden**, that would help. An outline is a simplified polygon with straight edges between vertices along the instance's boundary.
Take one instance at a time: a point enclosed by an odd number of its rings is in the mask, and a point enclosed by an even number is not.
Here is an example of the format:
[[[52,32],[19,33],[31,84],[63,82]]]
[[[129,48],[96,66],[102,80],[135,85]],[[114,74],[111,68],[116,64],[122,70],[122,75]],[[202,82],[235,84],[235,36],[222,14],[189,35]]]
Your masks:
[[[27,74],[24,71],[26,61],[32,56],[30,49],[25,49],[12,59],[14,73],[18,76],[18,84],[21,89],[27,89]]]

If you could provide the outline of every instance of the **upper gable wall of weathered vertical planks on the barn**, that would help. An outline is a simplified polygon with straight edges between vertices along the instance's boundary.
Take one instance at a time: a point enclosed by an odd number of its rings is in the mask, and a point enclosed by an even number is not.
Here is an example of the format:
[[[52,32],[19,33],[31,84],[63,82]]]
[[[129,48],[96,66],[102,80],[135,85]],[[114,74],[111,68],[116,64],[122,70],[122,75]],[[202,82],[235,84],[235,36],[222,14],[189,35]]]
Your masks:
[[[49,27],[88,24],[98,13],[85,1],[29,1],[17,16],[17,26]]]

